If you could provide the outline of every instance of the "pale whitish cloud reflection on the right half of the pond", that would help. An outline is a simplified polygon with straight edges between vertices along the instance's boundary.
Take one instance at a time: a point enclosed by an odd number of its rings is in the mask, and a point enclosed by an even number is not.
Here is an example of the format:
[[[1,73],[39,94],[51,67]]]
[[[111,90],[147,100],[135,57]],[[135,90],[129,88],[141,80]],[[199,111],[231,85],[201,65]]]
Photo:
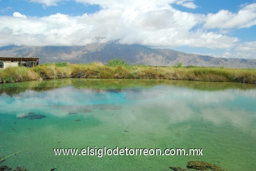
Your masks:
[[[156,92],[154,88],[153,91],[140,90],[137,94],[153,97],[158,94]],[[215,125],[232,125],[238,130],[255,134],[256,115],[251,113],[251,104],[240,106],[240,101],[245,103],[244,99],[250,103],[255,102],[255,90],[209,92],[165,87],[162,96],[157,100],[132,102],[131,109],[127,110],[126,115],[120,115],[120,119],[126,124],[141,122],[157,127],[189,120],[205,120]]]

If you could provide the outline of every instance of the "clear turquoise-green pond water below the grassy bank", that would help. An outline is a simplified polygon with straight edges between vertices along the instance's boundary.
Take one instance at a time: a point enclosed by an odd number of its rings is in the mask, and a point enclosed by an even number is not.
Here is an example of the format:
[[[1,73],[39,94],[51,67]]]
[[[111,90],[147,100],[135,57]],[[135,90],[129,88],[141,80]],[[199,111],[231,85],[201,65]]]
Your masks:
[[[0,85],[0,165],[170,170],[190,160],[255,170],[256,86],[63,79]],[[28,113],[45,116],[30,119]],[[203,149],[203,156],[55,156],[56,148]]]

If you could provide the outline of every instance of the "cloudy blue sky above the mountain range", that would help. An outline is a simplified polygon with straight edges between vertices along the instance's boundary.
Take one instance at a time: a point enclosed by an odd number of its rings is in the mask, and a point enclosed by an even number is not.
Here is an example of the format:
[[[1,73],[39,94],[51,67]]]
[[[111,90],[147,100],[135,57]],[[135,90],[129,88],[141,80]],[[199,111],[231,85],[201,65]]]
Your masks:
[[[0,0],[0,46],[108,42],[256,59],[256,0]]]

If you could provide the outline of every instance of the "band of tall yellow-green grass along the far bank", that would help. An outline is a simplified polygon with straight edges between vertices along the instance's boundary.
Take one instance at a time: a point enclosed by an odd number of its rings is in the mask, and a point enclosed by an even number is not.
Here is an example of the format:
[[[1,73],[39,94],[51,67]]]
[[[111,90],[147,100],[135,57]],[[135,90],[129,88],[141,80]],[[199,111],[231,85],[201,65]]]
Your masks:
[[[41,79],[94,78],[94,79],[168,79],[205,82],[238,82],[256,84],[256,69],[224,67],[184,67],[129,65],[119,59],[107,64],[48,63],[27,67],[8,67],[0,70],[0,83],[22,82]]]

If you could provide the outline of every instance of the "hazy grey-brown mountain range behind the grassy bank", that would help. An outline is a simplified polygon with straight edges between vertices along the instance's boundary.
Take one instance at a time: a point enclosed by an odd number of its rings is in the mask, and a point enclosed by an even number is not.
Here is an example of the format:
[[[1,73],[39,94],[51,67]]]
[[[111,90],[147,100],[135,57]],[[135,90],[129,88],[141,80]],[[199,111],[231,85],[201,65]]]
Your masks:
[[[3,46],[0,57],[38,57],[40,63],[70,62],[107,63],[119,58],[131,65],[173,66],[182,62],[183,66],[205,66],[227,68],[256,68],[255,59],[215,58],[198,54],[188,54],[168,49],[149,48],[138,44],[89,44],[86,46]]]

